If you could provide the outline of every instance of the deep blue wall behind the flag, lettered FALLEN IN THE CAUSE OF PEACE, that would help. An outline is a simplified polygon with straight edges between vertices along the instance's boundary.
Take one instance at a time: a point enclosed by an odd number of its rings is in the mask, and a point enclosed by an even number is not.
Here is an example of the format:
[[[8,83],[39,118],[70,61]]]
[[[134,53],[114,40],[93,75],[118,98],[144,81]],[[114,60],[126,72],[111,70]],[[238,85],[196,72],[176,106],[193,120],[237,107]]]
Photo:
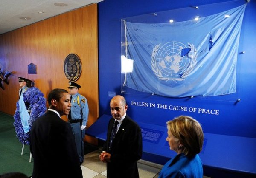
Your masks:
[[[226,2],[227,0],[105,0],[99,8],[99,112],[110,115],[109,92],[121,94],[121,19],[170,9]],[[209,9],[211,11],[211,9]],[[148,93],[123,94],[128,114],[137,121],[165,126],[179,115],[197,119],[205,133],[256,138],[256,1],[247,4],[237,60],[237,93],[227,96],[174,99]],[[241,99],[236,102],[236,99]],[[146,102],[197,108],[182,112],[131,105]],[[218,115],[198,113],[199,108],[219,110]]]

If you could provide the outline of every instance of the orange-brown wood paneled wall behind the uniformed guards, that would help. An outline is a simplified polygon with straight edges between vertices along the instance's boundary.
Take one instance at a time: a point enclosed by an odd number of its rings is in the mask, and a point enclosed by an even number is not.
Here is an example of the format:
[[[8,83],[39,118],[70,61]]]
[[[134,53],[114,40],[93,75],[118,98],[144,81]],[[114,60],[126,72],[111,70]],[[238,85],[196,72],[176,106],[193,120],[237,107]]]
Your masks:
[[[0,111],[15,113],[20,88],[18,76],[34,80],[45,98],[54,88],[67,89],[64,60],[75,53],[82,62],[82,73],[76,82],[89,105],[87,127],[96,121],[99,116],[97,24],[97,4],[93,4],[0,35],[1,70],[13,73],[9,85],[2,82],[5,90],[0,88]],[[28,74],[31,62],[37,66],[37,74]]]

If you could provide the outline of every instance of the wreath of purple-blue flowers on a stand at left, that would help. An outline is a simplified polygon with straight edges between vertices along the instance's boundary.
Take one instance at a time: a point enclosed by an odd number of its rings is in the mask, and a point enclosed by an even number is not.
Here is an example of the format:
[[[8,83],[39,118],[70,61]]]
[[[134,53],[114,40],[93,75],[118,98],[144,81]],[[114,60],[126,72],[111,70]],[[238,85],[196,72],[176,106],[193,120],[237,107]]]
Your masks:
[[[46,99],[44,98],[44,94],[38,88],[32,87],[23,93],[23,100],[25,103],[29,103],[29,108],[31,110],[29,115],[29,126],[31,127],[35,119],[44,115],[46,111]],[[13,125],[17,133],[17,138],[22,144],[29,145],[29,132],[24,133],[21,124],[19,101],[16,103],[16,107]]]

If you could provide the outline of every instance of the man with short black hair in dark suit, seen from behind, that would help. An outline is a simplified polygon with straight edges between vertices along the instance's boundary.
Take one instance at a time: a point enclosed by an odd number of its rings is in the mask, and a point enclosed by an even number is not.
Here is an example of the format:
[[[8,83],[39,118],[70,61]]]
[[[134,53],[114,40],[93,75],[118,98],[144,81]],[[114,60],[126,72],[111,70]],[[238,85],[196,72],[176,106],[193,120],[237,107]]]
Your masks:
[[[71,107],[67,90],[54,89],[47,98],[49,109],[30,130],[34,158],[33,178],[82,178],[70,124],[61,119]]]

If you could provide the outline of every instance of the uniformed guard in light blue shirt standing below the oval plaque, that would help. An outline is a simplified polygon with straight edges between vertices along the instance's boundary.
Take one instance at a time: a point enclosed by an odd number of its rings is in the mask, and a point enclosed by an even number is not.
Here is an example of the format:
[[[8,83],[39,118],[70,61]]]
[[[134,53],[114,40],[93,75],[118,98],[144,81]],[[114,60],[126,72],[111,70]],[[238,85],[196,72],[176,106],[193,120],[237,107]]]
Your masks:
[[[71,109],[68,115],[68,120],[72,127],[73,134],[75,136],[76,149],[79,155],[80,164],[84,161],[84,136],[85,127],[88,121],[88,103],[87,99],[78,93],[80,85],[75,82],[69,82],[69,93]]]

